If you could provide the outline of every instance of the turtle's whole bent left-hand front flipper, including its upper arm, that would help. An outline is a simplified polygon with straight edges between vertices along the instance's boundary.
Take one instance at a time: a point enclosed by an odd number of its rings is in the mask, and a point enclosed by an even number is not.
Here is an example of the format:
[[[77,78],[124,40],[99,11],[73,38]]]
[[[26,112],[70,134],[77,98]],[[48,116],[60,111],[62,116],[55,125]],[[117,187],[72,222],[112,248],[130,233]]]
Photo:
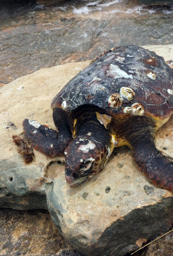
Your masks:
[[[65,119],[62,109],[53,110],[53,118],[59,132],[50,129],[47,125],[40,125],[35,120],[23,120],[24,136],[31,143],[32,148],[55,157],[64,154],[72,138],[68,120]]]

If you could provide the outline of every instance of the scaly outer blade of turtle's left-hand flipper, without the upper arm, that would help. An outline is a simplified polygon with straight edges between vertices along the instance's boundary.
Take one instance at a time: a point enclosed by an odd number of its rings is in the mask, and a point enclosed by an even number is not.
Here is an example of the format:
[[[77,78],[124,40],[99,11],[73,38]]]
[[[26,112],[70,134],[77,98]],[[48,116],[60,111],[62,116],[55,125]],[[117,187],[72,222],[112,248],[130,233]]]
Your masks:
[[[23,120],[24,136],[31,143],[32,148],[55,157],[64,154],[70,140],[59,132],[50,129],[47,125],[40,125],[35,121]]]

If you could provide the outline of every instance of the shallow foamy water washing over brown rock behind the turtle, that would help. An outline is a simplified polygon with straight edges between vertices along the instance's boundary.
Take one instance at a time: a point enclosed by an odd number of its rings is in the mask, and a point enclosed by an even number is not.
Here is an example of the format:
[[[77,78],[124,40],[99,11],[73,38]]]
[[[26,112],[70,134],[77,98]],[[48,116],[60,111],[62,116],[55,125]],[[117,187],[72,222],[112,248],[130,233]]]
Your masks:
[[[136,0],[0,2],[0,83],[126,44],[173,43],[173,6]]]

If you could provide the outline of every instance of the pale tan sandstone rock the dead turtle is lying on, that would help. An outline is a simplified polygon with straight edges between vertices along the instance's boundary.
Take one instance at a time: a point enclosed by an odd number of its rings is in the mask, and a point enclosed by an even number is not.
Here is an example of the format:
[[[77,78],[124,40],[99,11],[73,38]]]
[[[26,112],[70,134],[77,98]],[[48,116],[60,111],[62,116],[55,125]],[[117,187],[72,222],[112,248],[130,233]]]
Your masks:
[[[12,142],[13,134],[22,136],[26,117],[55,129],[53,97],[88,64],[41,69],[0,89],[0,206],[47,209],[62,236],[84,255],[122,256],[169,229],[173,193],[151,184],[127,147],[116,148],[103,171],[70,187],[63,156],[34,150],[35,162],[25,165]],[[157,132],[156,145],[173,158],[173,118]]]

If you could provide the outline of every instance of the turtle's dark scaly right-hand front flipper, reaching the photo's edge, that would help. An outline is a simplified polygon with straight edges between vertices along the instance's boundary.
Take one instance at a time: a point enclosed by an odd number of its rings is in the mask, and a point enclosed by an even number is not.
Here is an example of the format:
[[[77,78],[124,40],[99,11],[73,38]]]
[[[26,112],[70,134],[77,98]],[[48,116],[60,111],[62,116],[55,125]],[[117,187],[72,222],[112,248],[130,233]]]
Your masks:
[[[173,191],[173,162],[155,147],[155,131],[156,123],[150,117],[130,117],[121,129],[142,173],[156,186]]]

